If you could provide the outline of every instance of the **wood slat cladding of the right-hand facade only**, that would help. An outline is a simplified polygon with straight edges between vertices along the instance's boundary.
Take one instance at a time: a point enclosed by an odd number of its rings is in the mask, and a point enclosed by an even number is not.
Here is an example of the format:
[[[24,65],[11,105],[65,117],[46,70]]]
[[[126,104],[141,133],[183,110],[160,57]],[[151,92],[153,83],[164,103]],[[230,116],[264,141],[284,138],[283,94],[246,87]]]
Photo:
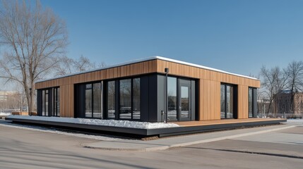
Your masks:
[[[237,85],[238,118],[248,118],[248,87],[260,87],[259,80],[158,60],[158,72],[164,73],[165,68],[170,69],[169,75],[181,75],[200,79],[198,120],[220,119],[221,82]]]

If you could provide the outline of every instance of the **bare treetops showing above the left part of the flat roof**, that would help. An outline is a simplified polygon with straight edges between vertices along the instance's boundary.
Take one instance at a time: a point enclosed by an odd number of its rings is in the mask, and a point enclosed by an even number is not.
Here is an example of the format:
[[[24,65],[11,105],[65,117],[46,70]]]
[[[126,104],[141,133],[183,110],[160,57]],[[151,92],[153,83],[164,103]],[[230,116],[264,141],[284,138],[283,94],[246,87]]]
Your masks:
[[[67,75],[71,73],[78,73],[86,70],[91,70],[97,67],[103,68],[105,66],[106,64],[104,62],[96,66],[95,63],[92,63],[89,58],[83,55],[81,55],[81,57],[78,59],[63,56],[60,58],[59,63],[55,66],[56,67],[55,75]]]

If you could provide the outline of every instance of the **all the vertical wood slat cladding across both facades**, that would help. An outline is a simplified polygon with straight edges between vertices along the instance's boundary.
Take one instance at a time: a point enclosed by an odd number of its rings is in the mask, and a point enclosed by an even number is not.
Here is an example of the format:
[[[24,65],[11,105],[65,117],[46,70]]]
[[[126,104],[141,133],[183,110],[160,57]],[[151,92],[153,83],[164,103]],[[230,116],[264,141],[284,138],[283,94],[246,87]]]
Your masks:
[[[227,73],[196,68],[190,65],[170,61],[152,60],[116,68],[98,70],[91,73],[72,75],[55,80],[37,82],[36,89],[57,87],[60,89],[60,112],[62,117],[73,117],[73,87],[74,84],[107,80],[117,77],[143,75],[145,73],[164,73],[170,68],[169,75],[191,77],[198,80],[198,120],[220,119],[220,84],[221,82],[236,84],[238,89],[238,118],[248,118],[248,87],[260,87],[259,80],[251,80]]]

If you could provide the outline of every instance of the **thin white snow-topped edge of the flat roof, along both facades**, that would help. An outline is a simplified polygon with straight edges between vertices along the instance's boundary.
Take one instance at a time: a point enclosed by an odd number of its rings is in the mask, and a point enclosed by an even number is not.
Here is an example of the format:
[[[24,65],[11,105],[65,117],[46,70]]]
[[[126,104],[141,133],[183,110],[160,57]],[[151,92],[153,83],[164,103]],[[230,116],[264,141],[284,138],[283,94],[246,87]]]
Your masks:
[[[37,82],[45,82],[45,81],[55,80],[55,79],[59,79],[59,78],[63,78],[63,77],[69,77],[69,76],[73,76],[73,75],[80,75],[80,74],[83,74],[83,73],[90,73],[90,72],[95,72],[95,71],[98,71],[98,70],[105,70],[105,69],[108,69],[108,68],[115,68],[115,67],[119,67],[121,65],[129,65],[129,64],[132,64],[132,63],[139,63],[139,62],[143,62],[143,61],[151,61],[151,60],[154,60],[154,59],[160,59],[160,60],[163,60],[163,61],[170,61],[170,62],[174,62],[174,63],[180,63],[180,64],[183,64],[183,65],[190,65],[190,66],[193,66],[193,67],[196,67],[196,68],[203,68],[203,69],[206,69],[206,70],[213,70],[213,71],[220,72],[220,73],[226,73],[226,74],[229,74],[229,75],[236,75],[236,76],[239,76],[239,77],[246,77],[246,78],[249,78],[249,79],[252,79],[252,80],[258,80],[255,77],[249,77],[249,76],[246,76],[246,75],[239,75],[239,74],[236,74],[236,73],[229,73],[229,72],[226,72],[224,70],[219,70],[219,69],[216,69],[216,68],[209,68],[209,67],[206,67],[206,66],[203,66],[203,65],[197,65],[197,64],[194,64],[194,63],[188,63],[188,62],[184,62],[184,61],[178,61],[178,60],[174,60],[172,58],[165,58],[165,57],[162,57],[162,56],[151,56],[151,57],[148,57],[148,58],[139,58],[139,59],[136,59],[136,60],[133,60],[133,61],[126,61],[124,63],[117,63],[117,64],[114,64],[114,65],[107,65],[103,68],[95,68],[95,69],[86,70],[86,71],[83,71],[83,72],[71,73],[69,75],[61,75],[61,76],[57,76],[57,77],[52,77],[52,78],[45,79],[45,80],[37,80]]]

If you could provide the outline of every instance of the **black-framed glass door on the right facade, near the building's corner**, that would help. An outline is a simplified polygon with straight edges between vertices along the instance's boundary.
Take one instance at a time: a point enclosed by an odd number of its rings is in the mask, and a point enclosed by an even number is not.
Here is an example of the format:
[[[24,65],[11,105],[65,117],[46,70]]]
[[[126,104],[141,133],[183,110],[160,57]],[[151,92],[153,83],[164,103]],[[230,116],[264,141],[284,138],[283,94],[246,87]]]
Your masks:
[[[179,80],[179,120],[191,120],[191,81]]]

